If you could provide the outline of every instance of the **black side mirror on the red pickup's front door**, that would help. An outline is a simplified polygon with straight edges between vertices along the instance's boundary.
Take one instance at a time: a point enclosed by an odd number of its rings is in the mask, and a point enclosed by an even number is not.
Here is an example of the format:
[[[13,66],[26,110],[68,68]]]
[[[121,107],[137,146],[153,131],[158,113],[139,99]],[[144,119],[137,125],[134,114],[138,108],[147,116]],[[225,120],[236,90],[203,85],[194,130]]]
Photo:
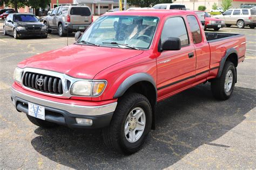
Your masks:
[[[161,46],[161,51],[180,50],[180,49],[181,49],[180,39],[174,38],[174,37],[167,38]]]

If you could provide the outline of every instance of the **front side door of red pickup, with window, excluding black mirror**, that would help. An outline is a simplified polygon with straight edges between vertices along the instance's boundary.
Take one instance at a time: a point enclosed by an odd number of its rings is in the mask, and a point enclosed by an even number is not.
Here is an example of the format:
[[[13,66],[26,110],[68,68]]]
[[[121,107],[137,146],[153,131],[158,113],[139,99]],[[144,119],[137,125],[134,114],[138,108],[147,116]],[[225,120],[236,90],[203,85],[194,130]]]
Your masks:
[[[161,32],[161,42],[177,37],[181,41],[178,51],[162,51],[157,57],[157,87],[159,98],[171,96],[172,92],[183,89],[194,82],[196,54],[189,43],[188,33],[182,17],[168,18]]]

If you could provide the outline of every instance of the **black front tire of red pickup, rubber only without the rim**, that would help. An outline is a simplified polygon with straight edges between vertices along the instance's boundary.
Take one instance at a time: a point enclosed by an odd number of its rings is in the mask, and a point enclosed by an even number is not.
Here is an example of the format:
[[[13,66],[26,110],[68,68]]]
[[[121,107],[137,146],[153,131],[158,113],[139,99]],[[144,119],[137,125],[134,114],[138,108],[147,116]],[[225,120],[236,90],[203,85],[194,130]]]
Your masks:
[[[146,124],[142,136],[136,142],[127,141],[124,126],[127,115],[136,107],[143,108]],[[149,100],[139,93],[126,94],[118,101],[110,125],[103,130],[105,145],[113,151],[125,154],[137,152],[149,134],[152,124],[152,108]]]

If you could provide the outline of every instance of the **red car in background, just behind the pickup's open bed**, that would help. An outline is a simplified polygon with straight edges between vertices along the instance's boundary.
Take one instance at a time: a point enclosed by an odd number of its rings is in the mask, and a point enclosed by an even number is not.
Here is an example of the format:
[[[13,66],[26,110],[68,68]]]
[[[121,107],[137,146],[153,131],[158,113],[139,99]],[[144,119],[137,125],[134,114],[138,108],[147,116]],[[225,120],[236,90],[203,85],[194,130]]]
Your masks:
[[[205,12],[204,30],[208,28],[218,31],[220,28],[223,28],[224,26],[225,21],[223,19],[211,18],[211,16],[207,12]]]

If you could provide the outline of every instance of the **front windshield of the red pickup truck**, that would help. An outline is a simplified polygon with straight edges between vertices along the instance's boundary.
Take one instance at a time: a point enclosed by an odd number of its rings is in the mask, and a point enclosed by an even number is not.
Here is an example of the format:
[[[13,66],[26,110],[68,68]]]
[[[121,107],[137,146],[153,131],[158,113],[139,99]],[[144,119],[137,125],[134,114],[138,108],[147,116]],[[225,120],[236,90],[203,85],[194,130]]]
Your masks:
[[[77,43],[148,49],[157,24],[157,17],[103,16],[86,30]]]

